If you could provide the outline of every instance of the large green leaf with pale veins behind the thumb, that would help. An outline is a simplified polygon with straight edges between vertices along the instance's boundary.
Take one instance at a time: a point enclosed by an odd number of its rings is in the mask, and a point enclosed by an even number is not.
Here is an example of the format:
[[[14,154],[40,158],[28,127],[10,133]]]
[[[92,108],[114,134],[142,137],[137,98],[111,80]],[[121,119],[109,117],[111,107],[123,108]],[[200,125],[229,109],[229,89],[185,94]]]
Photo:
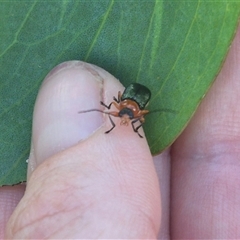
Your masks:
[[[144,126],[153,154],[183,130],[234,36],[233,1],[0,0],[0,185],[26,179],[38,88],[57,64],[79,59],[152,91]]]

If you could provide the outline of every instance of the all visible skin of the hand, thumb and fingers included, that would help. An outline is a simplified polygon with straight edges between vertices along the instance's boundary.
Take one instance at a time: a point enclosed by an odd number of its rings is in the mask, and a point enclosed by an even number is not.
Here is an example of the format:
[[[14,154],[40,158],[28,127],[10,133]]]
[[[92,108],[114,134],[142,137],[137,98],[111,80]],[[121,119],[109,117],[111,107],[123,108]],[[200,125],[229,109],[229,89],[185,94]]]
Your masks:
[[[26,192],[0,190],[1,238],[240,238],[239,42],[240,31],[191,122],[154,160],[119,119],[106,135],[107,116],[75,114],[111,102],[123,90],[113,76],[55,68],[35,105]]]

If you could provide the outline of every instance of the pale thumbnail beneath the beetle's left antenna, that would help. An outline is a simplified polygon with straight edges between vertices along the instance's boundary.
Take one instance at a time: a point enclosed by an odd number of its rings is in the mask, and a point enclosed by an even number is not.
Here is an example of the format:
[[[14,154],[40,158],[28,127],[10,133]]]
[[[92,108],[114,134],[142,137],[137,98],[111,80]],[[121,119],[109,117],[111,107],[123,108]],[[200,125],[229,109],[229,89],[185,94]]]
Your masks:
[[[102,124],[99,112],[103,79],[99,68],[71,61],[55,67],[45,78],[34,107],[29,173],[46,158],[86,139]]]

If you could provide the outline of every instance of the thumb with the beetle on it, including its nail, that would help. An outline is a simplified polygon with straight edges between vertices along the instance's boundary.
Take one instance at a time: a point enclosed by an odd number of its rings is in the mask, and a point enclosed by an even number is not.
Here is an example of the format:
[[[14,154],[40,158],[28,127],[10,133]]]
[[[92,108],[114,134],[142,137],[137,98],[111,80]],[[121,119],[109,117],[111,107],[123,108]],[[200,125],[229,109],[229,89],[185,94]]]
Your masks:
[[[66,64],[66,63],[65,63]],[[60,68],[60,70],[59,70]],[[99,108],[122,87],[96,66],[70,62],[44,81],[34,111],[26,193],[8,238],[156,238],[158,181],[145,139],[131,126],[109,134]],[[71,100],[72,99],[72,100]]]

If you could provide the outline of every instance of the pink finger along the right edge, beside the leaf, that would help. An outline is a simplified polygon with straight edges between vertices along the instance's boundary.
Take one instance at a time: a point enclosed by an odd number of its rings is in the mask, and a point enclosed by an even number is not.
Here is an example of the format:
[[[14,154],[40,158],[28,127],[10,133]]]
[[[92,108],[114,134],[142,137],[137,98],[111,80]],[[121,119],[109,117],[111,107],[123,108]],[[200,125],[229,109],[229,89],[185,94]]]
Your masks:
[[[216,82],[174,145],[175,239],[240,237],[240,29]]]

